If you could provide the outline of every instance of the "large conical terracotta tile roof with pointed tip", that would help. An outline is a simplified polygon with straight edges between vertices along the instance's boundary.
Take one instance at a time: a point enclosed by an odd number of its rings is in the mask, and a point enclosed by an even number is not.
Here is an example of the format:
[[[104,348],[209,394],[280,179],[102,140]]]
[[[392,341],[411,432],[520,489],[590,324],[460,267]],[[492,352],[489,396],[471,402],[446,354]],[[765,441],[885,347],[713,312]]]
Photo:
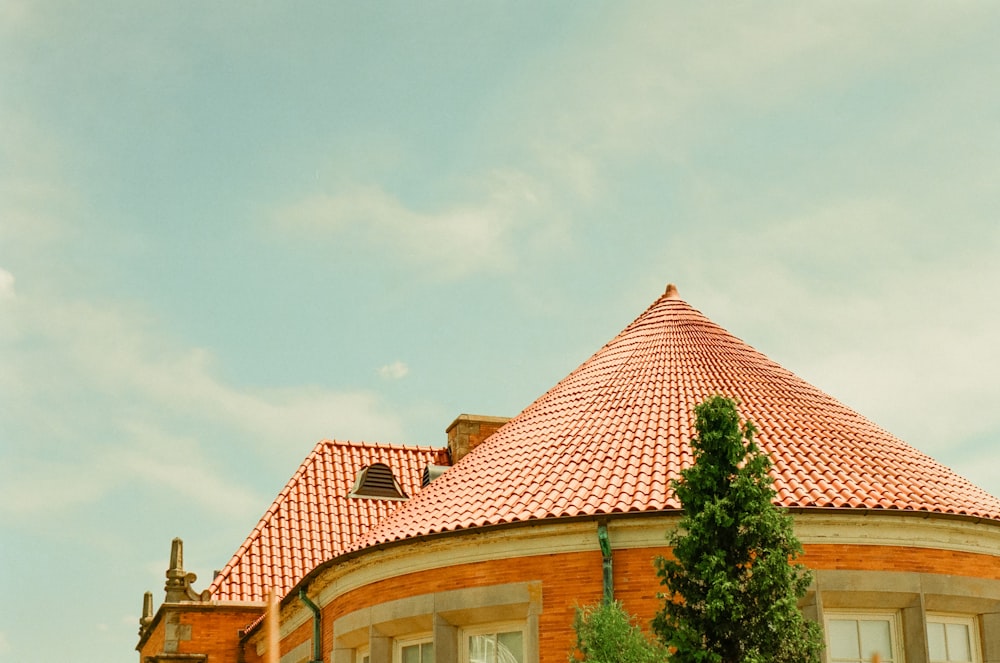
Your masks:
[[[694,406],[734,397],[786,507],[1000,520],[1000,500],[732,336],[668,288],[352,549],[538,518],[676,509]]]

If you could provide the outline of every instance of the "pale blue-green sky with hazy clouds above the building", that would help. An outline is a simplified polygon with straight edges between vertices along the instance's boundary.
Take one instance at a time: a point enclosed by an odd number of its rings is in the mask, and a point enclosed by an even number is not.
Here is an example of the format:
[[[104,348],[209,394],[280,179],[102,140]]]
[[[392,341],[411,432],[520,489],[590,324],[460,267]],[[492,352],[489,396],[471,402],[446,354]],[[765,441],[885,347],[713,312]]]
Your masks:
[[[668,282],[1000,494],[998,80],[990,2],[0,0],[0,662]]]

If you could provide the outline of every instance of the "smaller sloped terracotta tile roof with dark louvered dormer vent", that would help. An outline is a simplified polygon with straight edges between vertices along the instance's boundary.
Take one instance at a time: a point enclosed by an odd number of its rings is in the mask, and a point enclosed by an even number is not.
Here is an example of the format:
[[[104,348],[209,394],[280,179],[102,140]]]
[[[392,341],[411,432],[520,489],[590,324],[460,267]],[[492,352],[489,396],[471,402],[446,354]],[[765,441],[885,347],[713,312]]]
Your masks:
[[[443,448],[320,442],[209,585],[212,598],[263,601],[270,587],[284,596],[316,566],[405,504],[348,497],[363,467],[385,463],[412,496],[420,490],[424,467],[444,462]]]

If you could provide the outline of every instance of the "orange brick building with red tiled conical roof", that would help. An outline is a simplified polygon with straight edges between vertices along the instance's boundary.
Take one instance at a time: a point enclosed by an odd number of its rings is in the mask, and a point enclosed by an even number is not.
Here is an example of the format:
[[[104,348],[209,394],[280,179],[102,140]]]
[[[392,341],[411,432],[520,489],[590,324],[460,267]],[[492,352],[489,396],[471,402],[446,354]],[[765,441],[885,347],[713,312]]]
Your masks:
[[[610,587],[656,611],[694,406],[716,393],[774,461],[831,663],[1000,661],[1000,500],[731,335],[673,286],[507,421],[448,449],[322,442],[198,594],[175,542],[143,663],[562,663],[574,607]]]

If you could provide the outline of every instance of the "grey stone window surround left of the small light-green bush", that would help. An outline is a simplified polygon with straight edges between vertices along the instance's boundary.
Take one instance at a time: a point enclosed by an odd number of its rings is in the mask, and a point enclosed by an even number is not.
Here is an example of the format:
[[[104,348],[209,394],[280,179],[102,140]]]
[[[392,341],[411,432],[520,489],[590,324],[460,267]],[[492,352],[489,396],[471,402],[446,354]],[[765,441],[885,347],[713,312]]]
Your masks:
[[[436,663],[454,663],[463,628],[517,622],[524,630],[525,663],[538,663],[541,582],[518,582],[420,594],[356,610],[333,623],[332,663],[358,663],[368,647],[372,663],[389,663],[395,639],[430,633]]]

